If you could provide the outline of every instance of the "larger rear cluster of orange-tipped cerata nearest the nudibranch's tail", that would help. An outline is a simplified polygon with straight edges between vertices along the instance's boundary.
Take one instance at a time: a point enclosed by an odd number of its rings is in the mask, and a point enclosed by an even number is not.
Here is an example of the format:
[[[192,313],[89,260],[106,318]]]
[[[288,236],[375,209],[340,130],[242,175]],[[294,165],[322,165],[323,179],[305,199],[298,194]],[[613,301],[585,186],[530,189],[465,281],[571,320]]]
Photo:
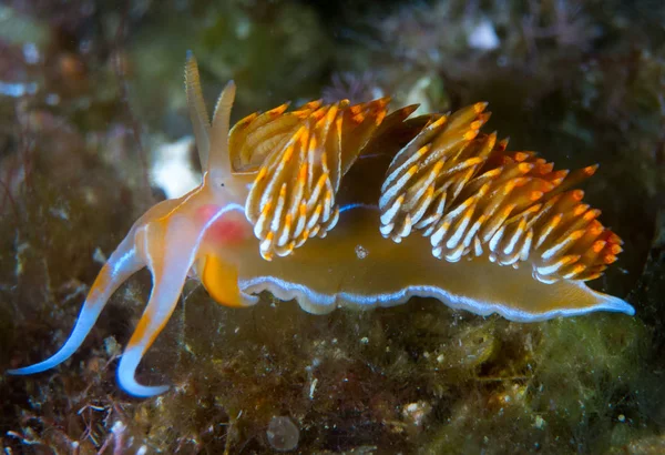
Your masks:
[[[569,173],[533,152],[508,152],[497,133],[479,133],[484,108],[432,121],[395,156],[379,200],[381,233],[400,242],[419,231],[450,262],[528,262],[545,283],[598,277],[622,242],[571,189],[596,166]]]

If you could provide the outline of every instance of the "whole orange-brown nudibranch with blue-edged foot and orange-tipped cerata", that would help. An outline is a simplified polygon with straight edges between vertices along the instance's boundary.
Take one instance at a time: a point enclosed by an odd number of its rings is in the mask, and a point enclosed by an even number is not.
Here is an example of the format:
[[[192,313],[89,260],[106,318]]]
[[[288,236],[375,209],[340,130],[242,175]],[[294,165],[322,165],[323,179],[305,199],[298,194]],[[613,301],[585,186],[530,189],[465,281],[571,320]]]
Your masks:
[[[201,185],[141,216],[62,348],[11,374],[70,357],[111,294],[144,266],[152,292],[117,367],[122,388],[144,397],[168,388],[140,384],[135,371],[187,276],[224,305],[253,305],[268,291],[317,314],[412,296],[520,322],[634,314],[585,284],[622,251],[574,189],[596,168],[569,173],[533,152],[508,151],[507,140],[480,132],[487,103],[417,118],[416,105],[389,113],[387,98],[283,104],[229,131],[234,83],[211,122],[191,54],[185,82]]]

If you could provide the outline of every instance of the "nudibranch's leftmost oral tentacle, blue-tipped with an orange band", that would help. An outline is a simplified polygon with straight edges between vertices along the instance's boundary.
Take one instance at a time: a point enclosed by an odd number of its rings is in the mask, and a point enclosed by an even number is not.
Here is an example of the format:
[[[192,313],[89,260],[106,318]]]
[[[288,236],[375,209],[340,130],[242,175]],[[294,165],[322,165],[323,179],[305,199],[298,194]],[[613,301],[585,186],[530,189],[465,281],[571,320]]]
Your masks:
[[[10,370],[7,373],[14,375],[41,373],[71,357],[90,333],[106,302],[109,302],[109,297],[125,280],[144,266],[145,262],[141,261],[136,254],[134,230],[132,230],[100,271],[88,293],[85,303],[83,303],[74,328],[60,351],[45,361],[22,368]]]

